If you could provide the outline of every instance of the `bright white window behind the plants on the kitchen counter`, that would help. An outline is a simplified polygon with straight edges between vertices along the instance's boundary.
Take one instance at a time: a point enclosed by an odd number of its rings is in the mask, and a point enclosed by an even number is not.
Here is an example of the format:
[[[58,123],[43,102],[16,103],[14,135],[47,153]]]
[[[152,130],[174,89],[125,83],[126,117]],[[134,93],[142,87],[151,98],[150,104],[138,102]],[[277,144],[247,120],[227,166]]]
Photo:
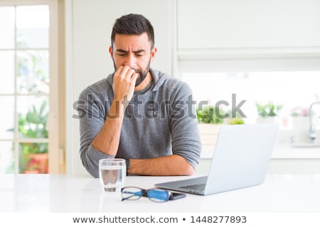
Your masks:
[[[215,105],[218,101],[228,101],[231,108],[232,94],[236,104],[240,104],[245,114],[245,123],[255,123],[258,117],[256,103],[282,106],[277,119],[282,128],[291,128],[292,111],[309,109],[314,101],[320,99],[318,71],[270,71],[270,72],[185,72],[183,80],[188,82],[194,92],[197,103],[208,101]],[[195,79],[196,78],[196,79]],[[319,106],[320,107],[320,106]],[[316,111],[316,106],[314,111]],[[299,114],[299,113],[295,113]]]

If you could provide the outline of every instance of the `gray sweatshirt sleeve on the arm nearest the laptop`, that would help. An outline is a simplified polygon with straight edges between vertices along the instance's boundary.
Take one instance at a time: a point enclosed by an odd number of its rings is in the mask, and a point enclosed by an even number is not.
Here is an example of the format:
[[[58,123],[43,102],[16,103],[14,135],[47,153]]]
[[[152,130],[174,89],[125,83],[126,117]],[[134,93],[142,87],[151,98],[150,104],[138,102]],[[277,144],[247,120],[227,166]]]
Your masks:
[[[201,140],[196,118],[196,103],[191,88],[180,82],[171,91],[172,153],[184,157],[194,169],[201,155]]]

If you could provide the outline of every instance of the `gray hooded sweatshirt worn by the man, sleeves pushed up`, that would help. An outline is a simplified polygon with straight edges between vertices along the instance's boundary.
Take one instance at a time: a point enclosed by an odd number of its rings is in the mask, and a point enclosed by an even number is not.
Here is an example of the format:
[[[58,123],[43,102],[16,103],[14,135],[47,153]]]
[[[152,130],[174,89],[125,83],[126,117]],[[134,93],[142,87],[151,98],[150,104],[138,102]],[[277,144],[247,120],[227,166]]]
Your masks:
[[[181,155],[194,169],[201,154],[201,140],[190,87],[168,74],[150,69],[153,83],[134,92],[122,123],[115,157],[145,159]],[[92,147],[105,123],[114,97],[113,74],[90,85],[80,94],[80,157],[93,177],[99,177],[99,160],[112,158]]]

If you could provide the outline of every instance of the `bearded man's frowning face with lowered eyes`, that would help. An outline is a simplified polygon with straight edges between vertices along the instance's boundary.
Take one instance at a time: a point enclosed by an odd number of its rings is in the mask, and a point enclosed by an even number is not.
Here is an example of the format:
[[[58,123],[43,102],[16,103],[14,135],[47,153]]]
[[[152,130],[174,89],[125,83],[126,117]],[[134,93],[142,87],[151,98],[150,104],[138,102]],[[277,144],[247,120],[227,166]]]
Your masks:
[[[154,60],[156,48],[151,48],[148,35],[116,34],[113,46],[110,46],[110,55],[114,63],[114,70],[119,66],[128,65],[139,73],[136,87],[144,80],[149,72],[150,63]]]

